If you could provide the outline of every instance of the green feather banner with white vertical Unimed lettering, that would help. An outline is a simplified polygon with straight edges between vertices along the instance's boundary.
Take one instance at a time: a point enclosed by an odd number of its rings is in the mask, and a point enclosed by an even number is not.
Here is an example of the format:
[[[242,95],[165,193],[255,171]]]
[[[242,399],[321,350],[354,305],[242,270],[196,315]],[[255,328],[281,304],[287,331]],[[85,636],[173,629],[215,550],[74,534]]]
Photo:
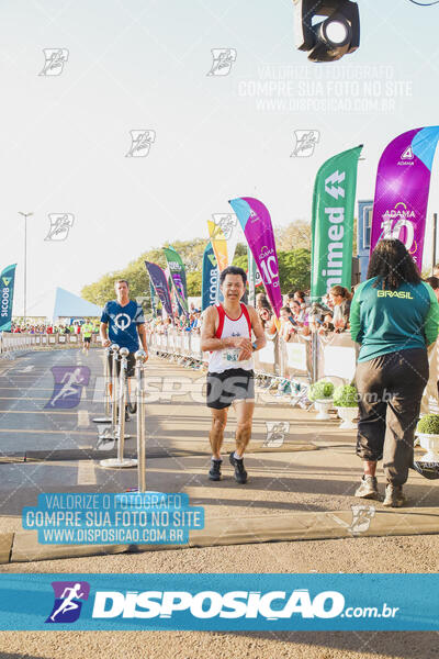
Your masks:
[[[326,160],[313,193],[311,299],[333,286],[351,287],[353,205],[362,144]]]

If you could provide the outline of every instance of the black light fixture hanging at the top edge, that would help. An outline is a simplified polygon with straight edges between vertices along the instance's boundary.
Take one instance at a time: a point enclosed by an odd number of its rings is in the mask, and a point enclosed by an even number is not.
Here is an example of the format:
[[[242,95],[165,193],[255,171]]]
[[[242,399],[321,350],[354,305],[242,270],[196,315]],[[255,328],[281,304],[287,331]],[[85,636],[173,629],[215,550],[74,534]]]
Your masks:
[[[334,62],[360,45],[360,13],[351,0],[293,0],[296,47],[311,62]],[[322,19],[322,20],[319,20]]]

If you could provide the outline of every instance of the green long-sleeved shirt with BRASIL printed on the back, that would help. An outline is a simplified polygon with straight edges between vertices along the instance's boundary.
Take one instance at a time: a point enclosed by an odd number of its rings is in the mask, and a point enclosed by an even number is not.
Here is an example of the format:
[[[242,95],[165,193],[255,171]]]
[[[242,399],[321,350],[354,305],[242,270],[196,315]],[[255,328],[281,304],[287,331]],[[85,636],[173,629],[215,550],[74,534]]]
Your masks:
[[[439,304],[432,288],[403,283],[396,291],[384,290],[381,278],[363,281],[350,308],[350,334],[361,344],[359,361],[380,355],[426,348],[439,332]]]

